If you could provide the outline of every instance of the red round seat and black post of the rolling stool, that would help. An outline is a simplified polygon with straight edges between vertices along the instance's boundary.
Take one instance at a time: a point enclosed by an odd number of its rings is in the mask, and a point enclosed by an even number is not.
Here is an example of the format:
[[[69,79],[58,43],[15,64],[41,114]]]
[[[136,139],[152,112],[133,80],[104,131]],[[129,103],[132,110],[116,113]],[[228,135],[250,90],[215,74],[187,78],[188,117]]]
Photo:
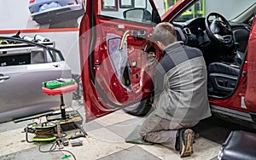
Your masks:
[[[55,80],[55,81],[57,81],[57,80]],[[53,81],[51,81],[51,82],[53,82]],[[43,83],[43,87],[42,87],[42,90],[43,90],[44,94],[49,94],[49,95],[60,94],[60,98],[61,98],[61,119],[62,120],[67,119],[63,94],[73,92],[76,89],[78,89],[78,84],[77,83],[67,84],[67,85],[63,85],[63,86],[61,85],[61,87],[56,87],[54,89],[49,89],[49,87],[46,86],[46,83]]]

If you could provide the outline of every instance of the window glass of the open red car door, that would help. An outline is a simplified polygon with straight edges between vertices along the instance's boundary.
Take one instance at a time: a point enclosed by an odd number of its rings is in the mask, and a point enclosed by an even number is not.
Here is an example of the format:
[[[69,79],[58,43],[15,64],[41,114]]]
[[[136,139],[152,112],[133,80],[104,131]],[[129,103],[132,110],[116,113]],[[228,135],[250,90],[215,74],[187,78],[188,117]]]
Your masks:
[[[102,0],[100,15],[141,23],[152,22],[152,6],[149,0]]]

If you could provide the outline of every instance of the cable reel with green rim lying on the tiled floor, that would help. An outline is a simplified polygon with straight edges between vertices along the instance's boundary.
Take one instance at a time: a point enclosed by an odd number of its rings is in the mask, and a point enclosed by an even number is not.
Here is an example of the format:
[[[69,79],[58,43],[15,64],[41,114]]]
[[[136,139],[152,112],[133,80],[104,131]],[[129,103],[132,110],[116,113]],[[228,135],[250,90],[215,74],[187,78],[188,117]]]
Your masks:
[[[55,136],[55,124],[54,123],[30,123],[26,125],[26,141],[32,142],[49,142],[56,140]],[[32,140],[28,140],[28,133],[32,133],[35,136]]]

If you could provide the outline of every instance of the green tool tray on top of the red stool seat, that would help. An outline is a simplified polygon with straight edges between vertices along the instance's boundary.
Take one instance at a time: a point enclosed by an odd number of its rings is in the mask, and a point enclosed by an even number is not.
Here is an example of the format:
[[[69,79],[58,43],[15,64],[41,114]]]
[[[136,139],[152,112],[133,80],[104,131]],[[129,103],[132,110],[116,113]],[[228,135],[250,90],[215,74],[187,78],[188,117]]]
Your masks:
[[[42,86],[48,89],[55,89],[55,88],[67,86],[74,83],[75,81],[73,78],[60,78],[53,81],[44,82],[42,83]]]

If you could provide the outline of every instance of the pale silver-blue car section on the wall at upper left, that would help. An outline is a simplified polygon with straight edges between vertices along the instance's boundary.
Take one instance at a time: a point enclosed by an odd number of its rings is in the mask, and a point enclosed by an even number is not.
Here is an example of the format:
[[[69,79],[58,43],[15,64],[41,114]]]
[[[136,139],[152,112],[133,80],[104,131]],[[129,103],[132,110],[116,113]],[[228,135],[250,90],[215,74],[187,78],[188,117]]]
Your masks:
[[[72,20],[84,14],[81,0],[30,0],[29,10],[38,24]]]

